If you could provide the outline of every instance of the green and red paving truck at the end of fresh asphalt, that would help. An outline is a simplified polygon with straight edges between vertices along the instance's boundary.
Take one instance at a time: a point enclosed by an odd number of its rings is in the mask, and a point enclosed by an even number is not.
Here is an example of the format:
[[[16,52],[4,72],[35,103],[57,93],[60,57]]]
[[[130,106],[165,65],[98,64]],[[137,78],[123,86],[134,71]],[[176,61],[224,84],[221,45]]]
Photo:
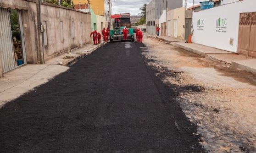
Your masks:
[[[110,41],[123,41],[122,29],[124,27],[128,28],[127,40],[134,41],[134,29],[129,13],[111,15],[111,19],[113,19],[113,29],[110,30]]]

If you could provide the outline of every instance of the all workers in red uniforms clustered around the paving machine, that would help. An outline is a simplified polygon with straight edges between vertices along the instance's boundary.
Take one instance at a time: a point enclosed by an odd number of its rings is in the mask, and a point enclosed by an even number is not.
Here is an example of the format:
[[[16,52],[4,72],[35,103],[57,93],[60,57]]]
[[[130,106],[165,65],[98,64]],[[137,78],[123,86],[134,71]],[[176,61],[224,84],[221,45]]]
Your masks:
[[[110,35],[110,30],[107,27],[107,29],[105,29],[105,27],[102,29],[101,31],[102,36],[103,36],[103,40],[107,43],[108,42],[108,38]],[[123,33],[123,40],[127,40],[127,36],[128,36],[128,29],[127,27],[124,27],[122,29],[122,33]],[[99,32],[97,32],[97,30],[91,32],[90,37],[93,36],[93,44],[100,44],[101,43],[101,34]],[[142,31],[140,30],[140,28],[138,28],[136,30],[136,40],[139,43],[142,43],[142,38],[143,38],[143,34]]]

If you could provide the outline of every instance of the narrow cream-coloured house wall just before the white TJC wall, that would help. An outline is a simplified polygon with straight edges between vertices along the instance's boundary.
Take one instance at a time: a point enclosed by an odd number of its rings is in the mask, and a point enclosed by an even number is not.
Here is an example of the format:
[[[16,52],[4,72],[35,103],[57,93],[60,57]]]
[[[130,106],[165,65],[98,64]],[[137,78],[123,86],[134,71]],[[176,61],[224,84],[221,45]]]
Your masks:
[[[185,7],[177,8],[173,10],[173,19],[178,20],[178,32],[177,38],[184,40],[185,37]]]

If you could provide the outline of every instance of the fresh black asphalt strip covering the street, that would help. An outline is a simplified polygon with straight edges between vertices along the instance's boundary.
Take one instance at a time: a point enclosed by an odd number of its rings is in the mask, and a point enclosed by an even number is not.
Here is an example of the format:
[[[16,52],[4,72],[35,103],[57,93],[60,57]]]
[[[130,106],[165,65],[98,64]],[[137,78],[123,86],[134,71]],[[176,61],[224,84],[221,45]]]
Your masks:
[[[0,109],[0,153],[204,153],[137,42],[109,43]]]

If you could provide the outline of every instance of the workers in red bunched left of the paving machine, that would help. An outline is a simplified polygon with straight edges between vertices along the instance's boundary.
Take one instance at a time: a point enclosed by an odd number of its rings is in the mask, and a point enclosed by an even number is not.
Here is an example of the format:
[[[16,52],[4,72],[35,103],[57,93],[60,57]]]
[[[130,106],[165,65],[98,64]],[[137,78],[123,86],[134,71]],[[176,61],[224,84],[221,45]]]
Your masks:
[[[107,29],[105,29],[105,27],[104,27],[102,29],[101,33],[102,33],[102,36],[103,36],[103,40],[107,43],[108,38],[109,38],[109,33],[110,33],[109,28],[107,27]],[[99,32],[97,32],[97,30],[91,32],[90,37],[93,38],[93,44],[100,44],[101,43],[101,34]]]

